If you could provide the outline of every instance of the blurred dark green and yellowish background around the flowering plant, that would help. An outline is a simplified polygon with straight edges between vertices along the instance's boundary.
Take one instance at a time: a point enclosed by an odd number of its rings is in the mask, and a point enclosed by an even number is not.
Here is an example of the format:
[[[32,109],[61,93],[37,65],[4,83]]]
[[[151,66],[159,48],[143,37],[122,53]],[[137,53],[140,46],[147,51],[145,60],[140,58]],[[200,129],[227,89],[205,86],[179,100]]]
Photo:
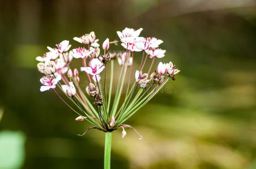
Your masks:
[[[114,131],[112,168],[256,168],[253,0],[1,0],[0,168],[103,168],[104,133],[76,135],[89,124],[39,91],[35,57],[91,31],[118,40],[125,27],[163,39],[161,61],[181,72],[127,122],[142,140]]]

